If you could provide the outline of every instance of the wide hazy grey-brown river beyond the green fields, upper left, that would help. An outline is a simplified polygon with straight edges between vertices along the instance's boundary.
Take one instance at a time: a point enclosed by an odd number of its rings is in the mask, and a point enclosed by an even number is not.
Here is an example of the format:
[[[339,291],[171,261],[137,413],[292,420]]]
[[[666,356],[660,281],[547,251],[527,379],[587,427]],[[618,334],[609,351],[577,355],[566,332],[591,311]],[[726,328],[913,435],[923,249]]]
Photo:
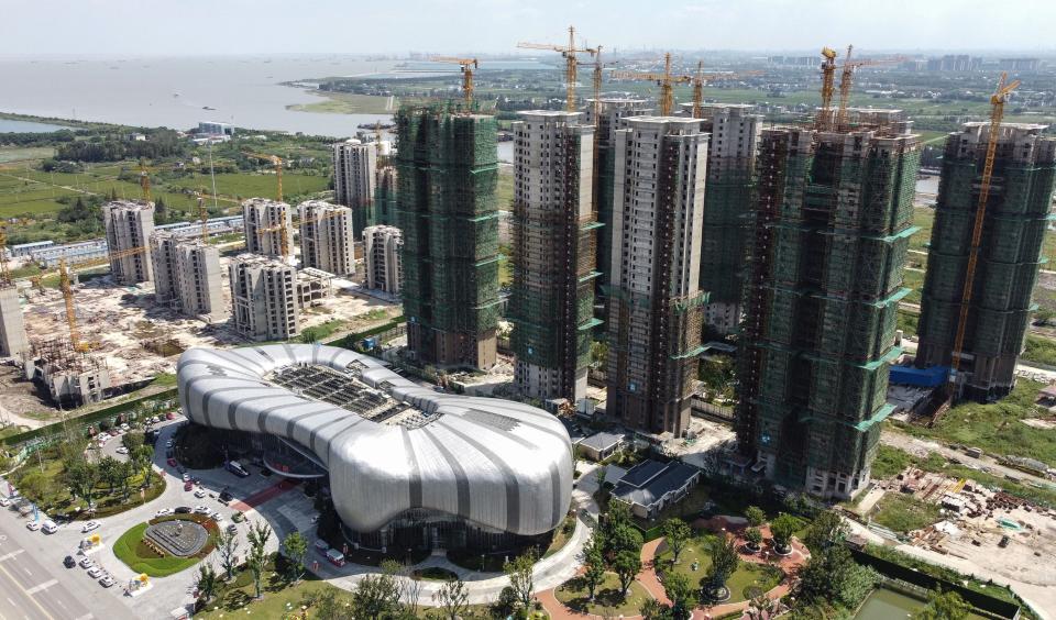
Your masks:
[[[279,82],[391,70],[393,60],[345,55],[140,58],[0,58],[0,111],[45,118],[189,129],[199,121],[349,136],[384,114],[286,109],[320,101]]]

